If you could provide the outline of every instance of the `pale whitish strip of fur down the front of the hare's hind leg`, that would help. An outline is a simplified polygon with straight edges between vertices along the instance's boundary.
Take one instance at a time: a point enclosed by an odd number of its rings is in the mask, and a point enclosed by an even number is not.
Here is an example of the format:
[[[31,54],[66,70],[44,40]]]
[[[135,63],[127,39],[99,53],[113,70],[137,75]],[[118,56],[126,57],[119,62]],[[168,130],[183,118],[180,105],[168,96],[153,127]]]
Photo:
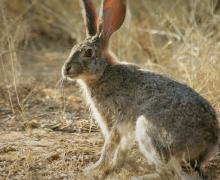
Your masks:
[[[159,168],[162,161],[152,144],[151,137],[147,134],[148,127],[147,119],[144,116],[140,116],[136,122],[136,141],[148,164]]]

